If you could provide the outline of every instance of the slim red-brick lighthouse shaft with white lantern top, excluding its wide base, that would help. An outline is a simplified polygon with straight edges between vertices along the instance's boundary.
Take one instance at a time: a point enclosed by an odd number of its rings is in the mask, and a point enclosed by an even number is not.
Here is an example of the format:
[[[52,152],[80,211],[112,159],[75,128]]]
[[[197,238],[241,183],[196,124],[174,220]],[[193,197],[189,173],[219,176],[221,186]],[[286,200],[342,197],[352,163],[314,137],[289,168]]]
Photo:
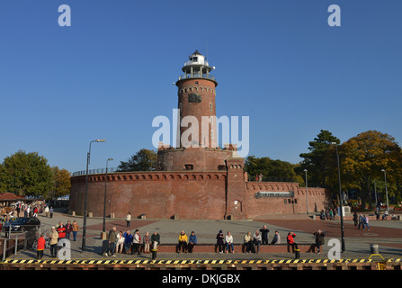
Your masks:
[[[218,85],[210,72],[207,58],[196,50],[182,68],[183,75],[176,82],[178,109],[182,124],[178,135],[180,147],[217,148],[215,94]],[[192,125],[198,124],[197,127]]]

